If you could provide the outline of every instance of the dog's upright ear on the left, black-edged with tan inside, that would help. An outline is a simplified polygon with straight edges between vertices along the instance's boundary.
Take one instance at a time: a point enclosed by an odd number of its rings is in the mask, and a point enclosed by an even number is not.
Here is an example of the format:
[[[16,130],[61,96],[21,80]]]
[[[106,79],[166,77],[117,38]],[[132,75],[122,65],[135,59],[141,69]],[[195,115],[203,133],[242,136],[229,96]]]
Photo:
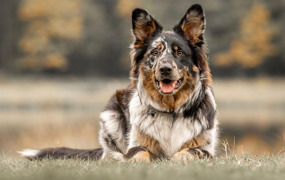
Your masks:
[[[162,31],[162,26],[145,10],[136,8],[132,14],[134,45],[143,45],[155,33]]]

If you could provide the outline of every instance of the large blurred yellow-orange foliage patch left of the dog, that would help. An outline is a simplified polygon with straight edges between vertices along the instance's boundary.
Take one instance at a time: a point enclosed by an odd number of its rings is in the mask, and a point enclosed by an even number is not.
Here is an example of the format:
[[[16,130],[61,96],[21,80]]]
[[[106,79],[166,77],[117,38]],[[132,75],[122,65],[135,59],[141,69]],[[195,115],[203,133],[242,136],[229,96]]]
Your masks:
[[[82,6],[79,1],[23,1],[18,9],[27,22],[19,47],[21,69],[65,71],[69,44],[83,36]]]

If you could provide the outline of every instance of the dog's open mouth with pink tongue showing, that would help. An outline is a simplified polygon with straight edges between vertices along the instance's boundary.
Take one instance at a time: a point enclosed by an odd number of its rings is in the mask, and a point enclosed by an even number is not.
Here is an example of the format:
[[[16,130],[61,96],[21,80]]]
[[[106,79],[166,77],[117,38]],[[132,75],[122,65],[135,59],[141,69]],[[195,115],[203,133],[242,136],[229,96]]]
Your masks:
[[[164,79],[162,81],[155,80],[155,85],[158,90],[163,93],[171,93],[174,89],[179,88],[182,84],[182,78],[177,81],[172,81],[170,79]]]

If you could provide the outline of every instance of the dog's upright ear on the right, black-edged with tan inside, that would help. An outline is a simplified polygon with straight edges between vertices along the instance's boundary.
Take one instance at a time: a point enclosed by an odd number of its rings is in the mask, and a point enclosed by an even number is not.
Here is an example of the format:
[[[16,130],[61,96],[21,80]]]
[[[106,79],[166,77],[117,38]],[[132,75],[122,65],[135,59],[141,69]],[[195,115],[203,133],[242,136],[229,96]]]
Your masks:
[[[189,7],[180,22],[173,28],[174,32],[184,34],[192,45],[203,42],[204,29],[204,12],[199,4]]]

